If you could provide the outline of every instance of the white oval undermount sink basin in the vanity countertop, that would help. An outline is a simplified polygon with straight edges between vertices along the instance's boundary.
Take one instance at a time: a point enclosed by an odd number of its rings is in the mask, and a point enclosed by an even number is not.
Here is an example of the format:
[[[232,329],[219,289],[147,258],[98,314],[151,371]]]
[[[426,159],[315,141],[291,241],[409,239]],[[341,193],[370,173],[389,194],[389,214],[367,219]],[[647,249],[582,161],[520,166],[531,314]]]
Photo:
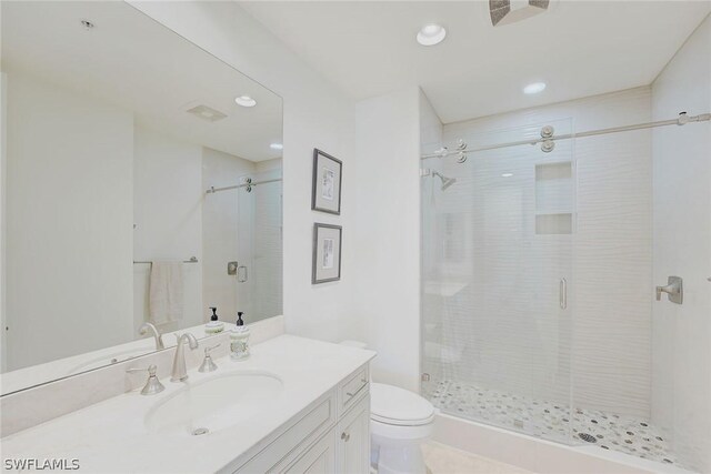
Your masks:
[[[233,426],[268,409],[281,395],[281,379],[269,372],[243,371],[183,382],[146,415],[151,433],[197,436]]]

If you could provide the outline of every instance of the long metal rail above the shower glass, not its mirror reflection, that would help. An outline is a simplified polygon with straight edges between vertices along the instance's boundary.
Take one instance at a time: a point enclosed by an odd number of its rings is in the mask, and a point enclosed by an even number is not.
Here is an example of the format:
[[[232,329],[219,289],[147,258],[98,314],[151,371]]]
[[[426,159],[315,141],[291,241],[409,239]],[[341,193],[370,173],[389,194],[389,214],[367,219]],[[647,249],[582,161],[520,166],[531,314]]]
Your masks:
[[[538,139],[529,139],[529,140],[519,140],[519,141],[513,141],[513,142],[508,142],[508,143],[500,143],[500,144],[492,144],[489,147],[481,147],[481,148],[473,148],[473,149],[467,149],[467,148],[458,148],[457,150],[447,150],[443,149],[440,152],[434,152],[434,153],[429,153],[429,154],[423,154],[420,157],[420,160],[428,160],[430,158],[447,158],[447,157],[452,157],[452,155],[458,155],[461,157],[462,154],[465,153],[474,153],[478,151],[488,151],[488,150],[498,150],[500,148],[509,148],[509,147],[519,147],[522,144],[531,144],[531,145],[535,145],[539,143],[545,143],[545,142],[554,142],[558,140],[570,140],[570,139],[575,139],[575,138],[584,138],[584,137],[594,137],[594,135],[604,135],[608,133],[619,133],[619,132],[629,132],[632,130],[643,130],[643,129],[653,129],[657,127],[668,127],[668,125],[685,125],[687,123],[690,122],[708,122],[711,121],[711,113],[701,113],[699,115],[688,115],[687,112],[681,112],[679,114],[678,118],[675,119],[670,119],[670,120],[660,120],[657,122],[647,122],[647,123],[637,123],[637,124],[632,124],[632,125],[622,125],[622,127],[612,127],[609,129],[600,129],[600,130],[590,130],[587,132],[580,132],[580,133],[565,133],[562,135],[547,135],[543,137],[543,133],[541,138]]]

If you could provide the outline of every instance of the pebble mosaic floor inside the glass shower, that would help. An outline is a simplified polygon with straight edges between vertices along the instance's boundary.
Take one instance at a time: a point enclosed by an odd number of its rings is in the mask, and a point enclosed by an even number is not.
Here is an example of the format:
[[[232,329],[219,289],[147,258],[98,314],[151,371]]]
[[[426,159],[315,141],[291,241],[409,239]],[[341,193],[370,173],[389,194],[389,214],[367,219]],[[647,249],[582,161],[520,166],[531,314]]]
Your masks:
[[[684,467],[679,465],[663,434],[645,420],[582,409],[575,409],[571,418],[564,404],[448,380],[433,384],[428,392],[432,404],[450,414],[563,443],[569,443],[572,435],[575,444],[582,441]]]

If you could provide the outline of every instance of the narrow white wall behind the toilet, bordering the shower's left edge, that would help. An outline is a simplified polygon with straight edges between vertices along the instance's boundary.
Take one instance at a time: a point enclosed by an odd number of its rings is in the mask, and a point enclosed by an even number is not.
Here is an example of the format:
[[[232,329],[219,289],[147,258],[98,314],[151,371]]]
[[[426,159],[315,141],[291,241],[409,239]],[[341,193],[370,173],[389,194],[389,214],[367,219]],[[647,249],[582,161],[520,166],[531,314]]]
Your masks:
[[[356,108],[360,320],[378,351],[373,380],[419,391],[420,91],[408,88]]]

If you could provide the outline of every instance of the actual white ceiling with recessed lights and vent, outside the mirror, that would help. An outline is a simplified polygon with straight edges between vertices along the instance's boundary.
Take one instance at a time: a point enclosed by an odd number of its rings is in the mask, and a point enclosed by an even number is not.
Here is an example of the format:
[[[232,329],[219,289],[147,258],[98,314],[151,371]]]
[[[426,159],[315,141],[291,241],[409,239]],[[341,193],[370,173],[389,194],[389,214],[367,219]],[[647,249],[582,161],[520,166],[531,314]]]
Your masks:
[[[710,1],[553,0],[492,27],[487,1],[240,1],[354,99],[420,85],[444,123],[651,83]],[[414,37],[448,29],[434,47]],[[522,88],[548,83],[538,95]]]

